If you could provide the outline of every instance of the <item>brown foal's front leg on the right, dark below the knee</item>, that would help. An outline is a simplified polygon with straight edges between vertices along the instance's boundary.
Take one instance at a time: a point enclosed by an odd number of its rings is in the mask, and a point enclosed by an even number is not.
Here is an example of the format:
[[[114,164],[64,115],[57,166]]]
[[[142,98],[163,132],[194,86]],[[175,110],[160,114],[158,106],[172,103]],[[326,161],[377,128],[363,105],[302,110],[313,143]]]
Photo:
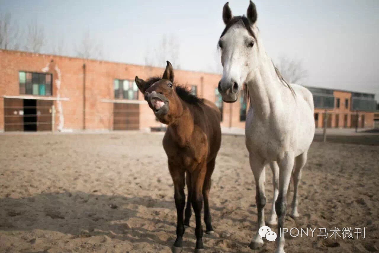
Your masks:
[[[203,184],[205,177],[205,168],[202,168],[200,171],[193,173],[192,183],[193,183],[193,195],[192,195],[192,206],[195,212],[196,218],[196,247],[195,252],[199,252],[201,249],[204,249],[203,245],[203,226],[201,224],[201,209],[203,208]]]

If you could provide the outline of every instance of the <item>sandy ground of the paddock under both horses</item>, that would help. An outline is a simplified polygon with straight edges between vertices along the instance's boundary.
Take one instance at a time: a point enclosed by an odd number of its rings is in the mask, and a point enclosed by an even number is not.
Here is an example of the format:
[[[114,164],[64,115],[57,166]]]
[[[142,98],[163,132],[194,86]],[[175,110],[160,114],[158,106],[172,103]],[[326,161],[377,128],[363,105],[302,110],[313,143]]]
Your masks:
[[[0,135],[0,251],[171,252],[176,211],[162,137]],[[287,234],[287,253],[379,249],[378,154],[375,145],[313,142],[299,186],[301,217],[287,216],[285,225],[316,231]],[[266,174],[268,218],[273,190],[271,171]],[[257,208],[243,136],[223,136],[212,178],[216,233],[204,235],[206,252],[274,252],[275,242],[267,240],[258,250],[248,247]],[[193,252],[194,225],[193,215],[184,252]],[[335,227],[365,228],[365,239],[317,236],[319,228]]]

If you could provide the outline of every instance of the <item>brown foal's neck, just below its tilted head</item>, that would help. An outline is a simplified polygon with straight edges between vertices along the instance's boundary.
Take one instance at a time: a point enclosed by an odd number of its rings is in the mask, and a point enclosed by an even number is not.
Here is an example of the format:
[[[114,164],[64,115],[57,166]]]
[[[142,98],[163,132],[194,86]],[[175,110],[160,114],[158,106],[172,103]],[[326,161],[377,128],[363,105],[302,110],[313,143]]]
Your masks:
[[[191,139],[194,130],[194,119],[191,109],[186,102],[181,100],[179,113],[170,124],[175,133],[175,139],[179,145],[185,145]]]

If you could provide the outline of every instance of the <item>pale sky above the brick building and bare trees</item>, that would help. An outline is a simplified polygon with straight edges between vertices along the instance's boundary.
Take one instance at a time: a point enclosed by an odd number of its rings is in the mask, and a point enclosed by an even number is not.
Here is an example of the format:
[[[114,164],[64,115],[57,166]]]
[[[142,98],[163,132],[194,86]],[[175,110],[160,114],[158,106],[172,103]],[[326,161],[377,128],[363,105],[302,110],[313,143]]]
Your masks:
[[[218,64],[217,42],[227,0],[0,0],[21,28],[44,27],[51,41],[64,41],[74,55],[86,30],[99,40],[103,59],[143,65],[147,49],[164,34],[180,44],[184,70],[211,71]],[[304,85],[376,94],[379,101],[378,0],[255,0],[258,27],[267,54],[302,60]],[[246,13],[248,0],[230,0],[233,15]],[[216,62],[217,61],[217,62]]]

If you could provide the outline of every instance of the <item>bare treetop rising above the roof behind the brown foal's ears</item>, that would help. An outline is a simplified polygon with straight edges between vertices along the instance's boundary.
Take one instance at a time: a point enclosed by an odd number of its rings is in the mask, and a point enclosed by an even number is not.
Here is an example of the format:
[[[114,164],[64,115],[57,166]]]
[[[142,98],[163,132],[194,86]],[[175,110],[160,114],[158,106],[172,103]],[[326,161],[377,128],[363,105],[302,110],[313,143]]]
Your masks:
[[[179,41],[174,35],[163,35],[157,47],[146,51],[145,64],[147,66],[165,67],[166,61],[170,61],[175,69],[180,69],[179,64]]]

